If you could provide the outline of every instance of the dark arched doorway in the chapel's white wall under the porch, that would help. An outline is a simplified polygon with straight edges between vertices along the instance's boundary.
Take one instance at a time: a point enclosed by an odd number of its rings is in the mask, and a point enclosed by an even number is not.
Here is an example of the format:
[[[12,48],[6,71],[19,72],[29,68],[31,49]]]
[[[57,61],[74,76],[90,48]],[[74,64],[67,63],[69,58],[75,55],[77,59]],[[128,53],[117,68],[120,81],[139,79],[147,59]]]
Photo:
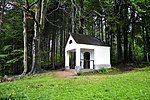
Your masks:
[[[90,69],[90,53],[84,53],[84,69]]]

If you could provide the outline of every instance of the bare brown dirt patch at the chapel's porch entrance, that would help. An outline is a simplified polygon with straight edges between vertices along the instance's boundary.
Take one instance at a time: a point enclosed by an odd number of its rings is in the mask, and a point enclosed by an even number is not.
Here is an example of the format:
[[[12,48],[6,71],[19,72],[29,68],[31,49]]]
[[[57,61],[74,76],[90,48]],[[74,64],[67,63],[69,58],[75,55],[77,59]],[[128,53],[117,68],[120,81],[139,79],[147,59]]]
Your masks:
[[[54,71],[52,73],[59,78],[65,78],[65,77],[71,77],[77,75],[75,70]]]

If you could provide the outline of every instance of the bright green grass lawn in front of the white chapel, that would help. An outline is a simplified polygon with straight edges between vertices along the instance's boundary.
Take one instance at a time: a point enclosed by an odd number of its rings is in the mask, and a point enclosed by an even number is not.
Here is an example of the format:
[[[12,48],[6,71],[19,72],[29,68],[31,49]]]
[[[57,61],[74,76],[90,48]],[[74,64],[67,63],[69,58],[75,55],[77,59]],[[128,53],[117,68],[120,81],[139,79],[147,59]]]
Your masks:
[[[29,76],[0,83],[0,100],[150,100],[150,68],[116,75]]]

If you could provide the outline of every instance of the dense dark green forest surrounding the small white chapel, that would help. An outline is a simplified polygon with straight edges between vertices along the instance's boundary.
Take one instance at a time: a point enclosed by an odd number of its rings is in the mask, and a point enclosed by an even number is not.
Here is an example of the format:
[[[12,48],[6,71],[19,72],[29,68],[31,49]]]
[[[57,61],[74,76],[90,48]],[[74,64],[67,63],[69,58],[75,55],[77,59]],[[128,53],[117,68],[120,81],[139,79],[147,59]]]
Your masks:
[[[111,64],[150,63],[149,0],[0,0],[0,76],[64,67],[69,33],[111,47]]]

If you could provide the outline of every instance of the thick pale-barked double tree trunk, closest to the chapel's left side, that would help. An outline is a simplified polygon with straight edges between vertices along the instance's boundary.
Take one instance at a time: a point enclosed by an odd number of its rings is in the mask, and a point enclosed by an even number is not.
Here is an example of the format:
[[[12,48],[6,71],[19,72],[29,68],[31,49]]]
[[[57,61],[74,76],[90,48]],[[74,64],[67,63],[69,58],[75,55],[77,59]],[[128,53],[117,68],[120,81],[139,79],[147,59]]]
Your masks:
[[[35,1],[36,2],[36,1]],[[32,69],[31,74],[41,70],[41,34],[44,29],[47,0],[38,0],[35,4],[34,36],[32,42]]]

